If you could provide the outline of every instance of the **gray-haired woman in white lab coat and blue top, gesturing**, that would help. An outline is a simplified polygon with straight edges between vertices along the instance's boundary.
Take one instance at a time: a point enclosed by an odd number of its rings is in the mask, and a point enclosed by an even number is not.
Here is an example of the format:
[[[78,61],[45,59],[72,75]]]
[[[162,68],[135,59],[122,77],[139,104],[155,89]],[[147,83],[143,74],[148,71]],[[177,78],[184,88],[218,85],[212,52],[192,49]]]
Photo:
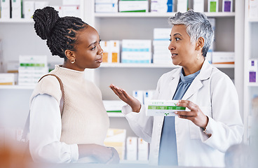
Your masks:
[[[169,19],[172,62],[178,69],[158,80],[153,99],[179,100],[178,117],[146,116],[146,109],[125,90],[110,85],[128,106],[123,113],[135,134],[151,143],[154,165],[224,167],[224,153],[243,136],[238,94],[231,79],[205,60],[213,40],[202,13],[189,10]]]

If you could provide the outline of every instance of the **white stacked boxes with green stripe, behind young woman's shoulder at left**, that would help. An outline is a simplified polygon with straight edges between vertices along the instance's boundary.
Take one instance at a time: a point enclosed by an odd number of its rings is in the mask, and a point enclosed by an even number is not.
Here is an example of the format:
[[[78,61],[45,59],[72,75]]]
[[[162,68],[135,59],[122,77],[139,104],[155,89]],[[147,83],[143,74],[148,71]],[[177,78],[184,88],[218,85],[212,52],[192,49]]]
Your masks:
[[[36,85],[48,73],[46,55],[20,55],[18,85]]]

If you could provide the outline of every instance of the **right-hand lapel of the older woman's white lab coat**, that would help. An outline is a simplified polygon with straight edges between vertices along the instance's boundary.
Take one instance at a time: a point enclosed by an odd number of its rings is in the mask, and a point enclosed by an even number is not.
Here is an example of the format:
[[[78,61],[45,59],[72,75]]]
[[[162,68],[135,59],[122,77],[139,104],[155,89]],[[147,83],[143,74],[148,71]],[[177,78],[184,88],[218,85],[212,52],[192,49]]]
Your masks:
[[[201,68],[200,73],[194,81],[189,86],[188,90],[184,94],[184,97],[182,99],[189,99],[195,92],[197,92],[201,87],[203,87],[202,80],[207,80],[210,78],[210,74],[212,73],[212,66],[209,64],[209,62],[205,59],[203,62],[203,66]]]

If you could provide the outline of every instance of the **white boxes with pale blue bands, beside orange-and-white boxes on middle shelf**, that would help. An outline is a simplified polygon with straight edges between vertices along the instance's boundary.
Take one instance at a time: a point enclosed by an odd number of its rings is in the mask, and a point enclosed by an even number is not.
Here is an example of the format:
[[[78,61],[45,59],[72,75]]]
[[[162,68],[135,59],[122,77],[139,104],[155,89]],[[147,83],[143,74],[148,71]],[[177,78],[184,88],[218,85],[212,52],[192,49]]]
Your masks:
[[[122,63],[151,63],[151,40],[123,40]]]

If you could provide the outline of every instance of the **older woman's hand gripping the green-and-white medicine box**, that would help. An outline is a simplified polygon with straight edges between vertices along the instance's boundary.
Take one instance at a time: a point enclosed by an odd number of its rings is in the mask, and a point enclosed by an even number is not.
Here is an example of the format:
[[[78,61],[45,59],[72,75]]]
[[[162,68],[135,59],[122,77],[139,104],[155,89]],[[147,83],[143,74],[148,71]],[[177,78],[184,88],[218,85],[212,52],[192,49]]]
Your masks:
[[[191,120],[198,127],[206,128],[208,125],[209,118],[201,111],[201,109],[189,100],[179,100],[177,106],[187,107],[191,111],[176,111],[175,114],[179,118],[185,118]]]

